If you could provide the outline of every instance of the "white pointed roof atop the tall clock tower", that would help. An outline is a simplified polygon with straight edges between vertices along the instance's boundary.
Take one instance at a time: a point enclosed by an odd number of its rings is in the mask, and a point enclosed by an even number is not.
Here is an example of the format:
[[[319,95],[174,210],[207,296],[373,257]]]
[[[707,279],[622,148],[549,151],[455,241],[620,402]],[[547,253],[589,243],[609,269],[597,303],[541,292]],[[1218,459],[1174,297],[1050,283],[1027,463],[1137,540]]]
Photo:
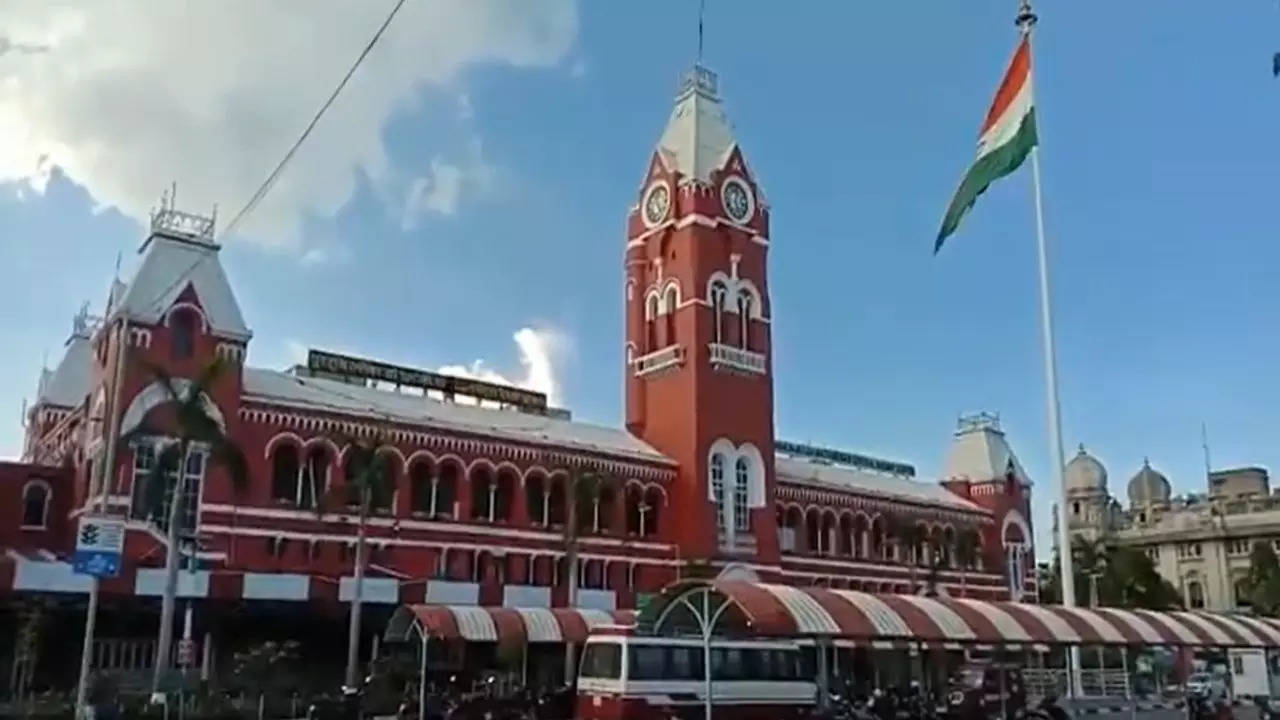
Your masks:
[[[716,73],[701,65],[694,65],[681,77],[658,152],[668,169],[685,178],[710,182],[712,172],[724,167],[737,145],[724,118],[718,86]]]

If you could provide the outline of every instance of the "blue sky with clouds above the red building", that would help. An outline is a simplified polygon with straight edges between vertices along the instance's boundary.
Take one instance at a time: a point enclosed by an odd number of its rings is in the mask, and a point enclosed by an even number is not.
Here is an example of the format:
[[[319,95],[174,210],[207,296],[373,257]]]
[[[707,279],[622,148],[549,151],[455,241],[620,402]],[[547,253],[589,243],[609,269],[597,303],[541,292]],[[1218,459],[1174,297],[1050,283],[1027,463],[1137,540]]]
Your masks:
[[[0,0],[0,457],[150,208],[225,223],[390,0]],[[780,437],[937,477],[998,411],[1050,468],[1029,169],[938,256],[1016,4],[708,0],[703,60],[772,211]],[[621,424],[627,209],[696,58],[698,3],[408,0],[224,265],[250,363],[307,347],[506,378]],[[1123,495],[1280,468],[1280,8],[1043,3],[1036,92],[1062,434]]]

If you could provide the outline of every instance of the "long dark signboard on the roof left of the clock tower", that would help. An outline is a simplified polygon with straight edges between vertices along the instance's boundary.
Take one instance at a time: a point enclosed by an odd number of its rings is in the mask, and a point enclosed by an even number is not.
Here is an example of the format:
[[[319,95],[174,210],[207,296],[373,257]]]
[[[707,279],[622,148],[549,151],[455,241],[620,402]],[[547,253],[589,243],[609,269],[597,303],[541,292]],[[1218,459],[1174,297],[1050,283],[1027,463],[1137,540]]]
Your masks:
[[[420,387],[424,391],[434,389],[445,397],[465,395],[476,400],[515,405],[526,411],[540,414],[547,414],[548,411],[547,396],[531,389],[442,375],[428,370],[389,365],[376,360],[338,355],[323,350],[307,351],[307,369],[317,377],[383,380],[397,386]]]

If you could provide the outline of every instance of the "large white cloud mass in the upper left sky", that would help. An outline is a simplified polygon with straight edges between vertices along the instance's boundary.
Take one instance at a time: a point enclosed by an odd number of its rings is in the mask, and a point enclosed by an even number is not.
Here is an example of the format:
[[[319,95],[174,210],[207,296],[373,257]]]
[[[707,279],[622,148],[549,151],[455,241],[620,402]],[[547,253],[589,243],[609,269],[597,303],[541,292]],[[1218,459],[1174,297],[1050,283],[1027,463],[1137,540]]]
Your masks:
[[[179,206],[216,202],[228,218],[389,6],[312,0],[298,13],[253,0],[0,0],[0,183],[38,191],[58,165],[101,206],[145,219],[177,181]],[[381,127],[421,85],[454,82],[475,63],[552,67],[576,32],[573,0],[407,3],[242,229],[297,245],[300,218],[333,214],[351,196],[357,168],[375,181],[388,174]],[[461,192],[467,164],[452,165]],[[435,192],[421,191],[428,210],[457,206],[449,167],[433,164]]]

